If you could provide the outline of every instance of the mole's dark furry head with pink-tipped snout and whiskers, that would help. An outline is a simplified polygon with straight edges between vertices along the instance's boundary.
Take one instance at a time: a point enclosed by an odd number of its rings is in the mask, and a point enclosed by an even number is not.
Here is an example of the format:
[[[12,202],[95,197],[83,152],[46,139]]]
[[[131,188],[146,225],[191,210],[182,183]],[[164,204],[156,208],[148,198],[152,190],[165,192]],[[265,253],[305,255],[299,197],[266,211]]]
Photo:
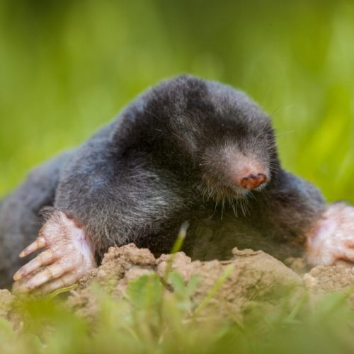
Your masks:
[[[279,163],[270,119],[258,105],[229,86],[192,76],[171,86],[171,139],[193,161],[198,189],[224,200],[265,188]]]

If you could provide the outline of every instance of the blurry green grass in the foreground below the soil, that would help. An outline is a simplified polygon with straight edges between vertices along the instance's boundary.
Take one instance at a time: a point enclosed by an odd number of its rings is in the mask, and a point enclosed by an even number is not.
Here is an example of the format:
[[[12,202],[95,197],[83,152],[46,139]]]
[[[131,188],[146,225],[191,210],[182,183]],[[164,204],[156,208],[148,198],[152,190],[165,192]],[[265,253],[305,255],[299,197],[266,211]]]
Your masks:
[[[71,312],[63,299],[22,303],[20,330],[0,319],[1,353],[353,353],[354,312],[347,294],[295,306],[253,303],[242,314],[200,311],[188,285],[170,273],[173,292],[156,275],[130,282],[123,299],[96,287],[98,316]],[[205,301],[212,301],[212,298]]]

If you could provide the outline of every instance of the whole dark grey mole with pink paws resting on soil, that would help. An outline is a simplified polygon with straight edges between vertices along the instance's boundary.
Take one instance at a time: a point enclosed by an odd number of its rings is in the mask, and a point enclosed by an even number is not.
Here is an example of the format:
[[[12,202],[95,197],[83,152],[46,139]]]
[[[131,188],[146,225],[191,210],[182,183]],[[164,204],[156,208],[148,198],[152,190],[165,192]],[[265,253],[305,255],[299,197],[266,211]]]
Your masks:
[[[0,286],[13,276],[23,292],[67,287],[130,242],[169,253],[185,221],[193,258],[251,245],[278,258],[305,250],[313,265],[352,262],[353,209],[326,205],[282,169],[271,120],[245,93],[176,76],[1,202]]]

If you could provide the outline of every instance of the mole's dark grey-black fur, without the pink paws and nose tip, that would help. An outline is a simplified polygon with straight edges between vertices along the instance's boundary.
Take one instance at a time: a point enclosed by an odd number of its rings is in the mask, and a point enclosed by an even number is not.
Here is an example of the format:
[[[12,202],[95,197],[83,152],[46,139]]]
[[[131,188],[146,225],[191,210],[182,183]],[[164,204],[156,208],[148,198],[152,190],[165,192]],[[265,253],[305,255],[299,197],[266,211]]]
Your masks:
[[[230,183],[230,154],[232,161],[251,156],[269,169],[263,190],[245,197]],[[212,258],[246,246],[244,238],[264,240],[258,244],[264,249],[273,240],[291,249],[324,200],[281,169],[271,122],[256,103],[229,86],[178,76],[149,89],[8,196],[0,210],[4,282],[19,265],[18,251],[35,239],[38,212],[47,206],[84,224],[98,258],[128,242],[169,252],[185,220],[191,224],[185,250]]]

